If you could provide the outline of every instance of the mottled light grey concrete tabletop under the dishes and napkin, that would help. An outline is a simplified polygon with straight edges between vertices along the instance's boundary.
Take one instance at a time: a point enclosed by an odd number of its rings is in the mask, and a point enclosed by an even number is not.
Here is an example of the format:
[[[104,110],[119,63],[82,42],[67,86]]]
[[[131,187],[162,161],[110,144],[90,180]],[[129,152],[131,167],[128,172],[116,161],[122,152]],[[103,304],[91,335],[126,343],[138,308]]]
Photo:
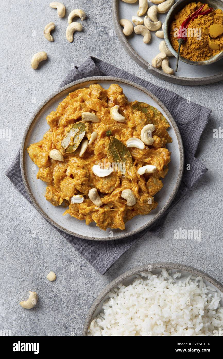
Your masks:
[[[1,129],[11,129],[11,140],[0,138],[1,161],[1,268],[0,330],[12,335],[81,335],[88,308],[98,292],[122,272],[151,262],[168,261],[194,266],[220,282],[222,275],[222,139],[213,129],[222,126],[222,83],[184,87],[160,80],[135,64],[122,49],[112,24],[109,0],[64,0],[63,19],[49,0],[1,0]],[[84,33],[71,44],[65,38],[67,16],[83,8]],[[43,37],[44,26],[55,22],[55,41]],[[77,20],[79,21],[79,20]],[[38,70],[32,55],[47,51]],[[89,55],[111,62],[152,83],[190,97],[213,110],[197,151],[208,172],[170,212],[159,237],[139,241],[104,275],[98,274],[73,247],[21,196],[5,170],[20,147],[26,123],[69,69]],[[174,229],[201,229],[202,240],[174,239]],[[52,270],[57,280],[46,279]],[[28,291],[39,294],[37,306],[19,306]]]

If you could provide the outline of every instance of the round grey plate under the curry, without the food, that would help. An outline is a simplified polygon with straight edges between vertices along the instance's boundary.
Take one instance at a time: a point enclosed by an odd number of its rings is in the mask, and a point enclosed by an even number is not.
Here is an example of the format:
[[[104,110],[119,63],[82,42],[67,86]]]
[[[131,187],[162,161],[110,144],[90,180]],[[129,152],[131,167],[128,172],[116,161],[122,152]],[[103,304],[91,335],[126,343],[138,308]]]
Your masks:
[[[96,227],[95,223],[86,225],[85,221],[78,220],[70,215],[63,216],[65,209],[62,206],[53,206],[45,199],[46,184],[37,180],[38,167],[31,161],[26,149],[31,143],[40,141],[45,132],[49,129],[46,116],[55,111],[58,104],[70,93],[78,88],[89,87],[90,84],[98,83],[104,88],[108,88],[112,83],[117,83],[123,88],[129,101],[138,100],[146,102],[157,109],[167,118],[170,123],[168,129],[173,142],[167,148],[171,151],[171,162],[169,172],[163,180],[163,188],[155,195],[158,206],[148,215],[135,216],[126,223],[125,230],[110,229],[106,231]],[[34,113],[25,130],[21,144],[20,167],[25,189],[29,198],[39,213],[48,220],[49,223],[59,228],[63,232],[72,236],[89,240],[108,241],[127,238],[141,232],[151,226],[160,218],[173,201],[181,183],[184,168],[184,149],[179,129],[168,109],[152,93],[145,88],[127,80],[112,78],[108,76],[90,77],[73,83],[55,91],[49,96],[40,108]]]

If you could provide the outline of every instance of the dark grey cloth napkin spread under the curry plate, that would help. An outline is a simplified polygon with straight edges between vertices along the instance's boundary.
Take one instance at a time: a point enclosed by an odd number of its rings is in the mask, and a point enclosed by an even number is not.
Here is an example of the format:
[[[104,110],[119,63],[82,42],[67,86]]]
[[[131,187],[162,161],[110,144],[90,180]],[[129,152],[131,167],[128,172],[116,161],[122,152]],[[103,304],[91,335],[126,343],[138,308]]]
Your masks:
[[[179,127],[184,143],[185,164],[190,164],[190,171],[184,171],[180,188],[165,215],[159,218],[151,228],[141,233],[130,236],[127,239],[100,242],[73,237],[53,226],[98,272],[105,274],[112,264],[115,263],[132,244],[138,241],[139,238],[148,238],[151,235],[159,234],[167,213],[207,171],[207,168],[205,168],[194,155],[198,147],[200,136],[212,111],[196,103],[188,102],[174,92],[153,85],[95,57],[88,57],[81,66],[76,66],[74,70],[71,70],[60,84],[60,87],[91,76],[113,76],[127,79],[141,85],[156,95],[168,108]],[[15,187],[30,202],[21,178],[19,152],[6,171],[6,176],[8,176]]]

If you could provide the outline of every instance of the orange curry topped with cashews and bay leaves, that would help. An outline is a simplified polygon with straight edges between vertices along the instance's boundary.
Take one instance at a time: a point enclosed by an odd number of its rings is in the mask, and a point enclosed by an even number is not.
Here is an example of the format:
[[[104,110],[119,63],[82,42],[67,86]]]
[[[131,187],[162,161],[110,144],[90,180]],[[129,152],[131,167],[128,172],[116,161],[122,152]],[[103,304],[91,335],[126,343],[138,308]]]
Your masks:
[[[50,129],[27,151],[47,183],[46,199],[67,206],[64,215],[125,229],[156,208],[172,142],[156,108],[129,102],[117,84],[93,84],[70,93],[47,122]]]

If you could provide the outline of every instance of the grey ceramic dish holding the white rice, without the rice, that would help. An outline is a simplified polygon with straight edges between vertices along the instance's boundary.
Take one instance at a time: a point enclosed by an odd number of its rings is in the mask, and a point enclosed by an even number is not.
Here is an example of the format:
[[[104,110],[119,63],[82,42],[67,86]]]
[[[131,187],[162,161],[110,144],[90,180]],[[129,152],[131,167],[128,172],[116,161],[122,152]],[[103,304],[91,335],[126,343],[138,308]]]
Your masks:
[[[214,287],[217,292],[223,293],[223,285],[220,284],[217,280],[209,276],[208,274],[195,269],[190,266],[186,266],[183,264],[178,263],[148,263],[147,265],[135,267],[133,269],[130,269],[129,271],[121,274],[118,276],[115,280],[113,280],[110,284],[108,284],[97,296],[97,298],[94,300],[91,308],[89,309],[89,312],[87,314],[86,321],[84,323],[83,328],[83,336],[87,335],[87,330],[89,325],[91,324],[92,320],[97,317],[97,315],[101,312],[103,303],[108,298],[108,293],[111,292],[112,289],[116,288],[118,284],[122,283],[123,285],[129,285],[132,283],[134,278],[137,274],[140,272],[145,272],[148,270],[148,265],[151,265],[151,272],[154,274],[157,274],[161,271],[162,268],[166,269],[172,269],[173,271],[180,271],[182,273],[182,277],[188,277],[188,275],[192,274],[194,276],[202,277],[204,282],[208,284],[208,286]]]

